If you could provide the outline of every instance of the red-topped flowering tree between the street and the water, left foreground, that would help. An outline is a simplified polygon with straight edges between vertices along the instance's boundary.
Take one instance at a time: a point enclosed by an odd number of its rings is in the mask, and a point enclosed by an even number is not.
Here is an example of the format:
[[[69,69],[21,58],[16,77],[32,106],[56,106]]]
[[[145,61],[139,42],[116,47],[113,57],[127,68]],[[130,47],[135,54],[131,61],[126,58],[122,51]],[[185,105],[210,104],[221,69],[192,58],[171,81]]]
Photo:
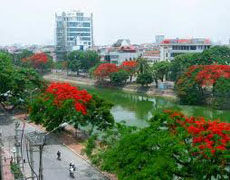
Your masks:
[[[111,107],[100,98],[91,96],[86,90],[80,90],[68,83],[51,83],[34,100],[30,118],[47,130],[52,130],[63,122],[76,128],[91,124],[93,128],[97,126],[101,130],[113,125]]]

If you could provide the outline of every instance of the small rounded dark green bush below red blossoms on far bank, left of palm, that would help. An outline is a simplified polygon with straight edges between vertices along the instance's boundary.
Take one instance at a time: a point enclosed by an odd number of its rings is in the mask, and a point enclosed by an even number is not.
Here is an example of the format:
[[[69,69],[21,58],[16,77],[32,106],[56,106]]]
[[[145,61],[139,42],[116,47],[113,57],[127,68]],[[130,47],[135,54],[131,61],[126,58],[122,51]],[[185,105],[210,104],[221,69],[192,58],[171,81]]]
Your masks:
[[[129,78],[129,74],[124,70],[120,70],[118,72],[110,74],[109,77],[112,84],[121,85],[126,83],[127,79]]]

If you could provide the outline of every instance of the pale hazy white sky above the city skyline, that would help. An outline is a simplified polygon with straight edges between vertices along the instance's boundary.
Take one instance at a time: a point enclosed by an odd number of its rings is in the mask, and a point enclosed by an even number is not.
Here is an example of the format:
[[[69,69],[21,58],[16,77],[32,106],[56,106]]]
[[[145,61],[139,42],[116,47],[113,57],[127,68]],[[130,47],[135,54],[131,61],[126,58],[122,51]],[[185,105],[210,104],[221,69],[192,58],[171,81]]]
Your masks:
[[[210,38],[228,43],[230,0],[0,0],[0,45],[54,44],[55,12],[94,14],[96,45]]]

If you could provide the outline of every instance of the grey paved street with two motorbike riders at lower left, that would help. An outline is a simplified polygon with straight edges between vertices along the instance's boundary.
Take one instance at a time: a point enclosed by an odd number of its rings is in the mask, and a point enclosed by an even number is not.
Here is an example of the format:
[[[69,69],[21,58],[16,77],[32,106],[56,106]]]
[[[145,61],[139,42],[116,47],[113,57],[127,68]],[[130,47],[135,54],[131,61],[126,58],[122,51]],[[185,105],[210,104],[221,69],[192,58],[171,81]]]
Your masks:
[[[3,142],[5,149],[12,149],[14,146],[14,121],[10,119],[9,116],[0,112],[0,129],[3,134]],[[36,129],[26,124],[25,133],[35,131]],[[38,130],[37,130],[38,131]],[[60,151],[62,153],[61,161],[56,159],[56,152]],[[26,159],[26,148],[23,148],[24,159]],[[38,174],[38,151],[34,152],[34,166],[35,171]],[[79,156],[74,154],[70,149],[62,145],[54,137],[54,135],[49,135],[47,145],[44,147],[43,153],[43,165],[44,165],[44,180],[69,180],[69,163],[73,162],[76,165],[75,179],[79,180],[104,180],[105,177],[97,171],[95,168],[90,166],[85,160],[81,159]],[[30,176],[30,168],[28,163],[25,166],[25,171],[27,177]],[[36,179],[36,178],[35,178]]]

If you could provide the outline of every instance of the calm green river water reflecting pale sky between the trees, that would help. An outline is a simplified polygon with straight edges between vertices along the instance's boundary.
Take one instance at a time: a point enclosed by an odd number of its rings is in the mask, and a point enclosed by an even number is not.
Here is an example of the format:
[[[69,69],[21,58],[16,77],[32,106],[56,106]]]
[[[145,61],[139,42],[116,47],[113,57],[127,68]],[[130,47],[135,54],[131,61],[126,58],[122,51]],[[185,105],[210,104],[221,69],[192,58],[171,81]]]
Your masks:
[[[175,100],[164,97],[148,97],[139,93],[124,92],[114,89],[96,88],[94,86],[80,86],[91,94],[114,104],[111,112],[117,122],[126,121],[128,125],[144,127],[146,120],[152,113],[161,109],[178,109],[186,115],[204,116],[209,119],[217,119],[230,122],[230,110],[219,111],[204,106],[182,106]]]

